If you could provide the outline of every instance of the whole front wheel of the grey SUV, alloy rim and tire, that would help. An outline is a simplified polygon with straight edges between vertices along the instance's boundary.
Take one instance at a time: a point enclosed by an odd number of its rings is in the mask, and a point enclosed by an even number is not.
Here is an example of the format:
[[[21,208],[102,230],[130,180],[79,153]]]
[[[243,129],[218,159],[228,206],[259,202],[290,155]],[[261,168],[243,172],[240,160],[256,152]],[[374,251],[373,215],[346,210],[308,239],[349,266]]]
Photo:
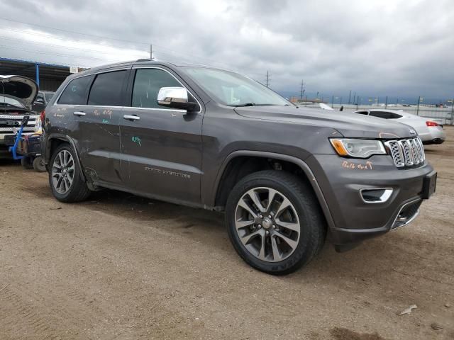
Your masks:
[[[326,237],[309,184],[282,171],[259,171],[239,181],[228,196],[226,222],[241,258],[275,275],[309,263]]]

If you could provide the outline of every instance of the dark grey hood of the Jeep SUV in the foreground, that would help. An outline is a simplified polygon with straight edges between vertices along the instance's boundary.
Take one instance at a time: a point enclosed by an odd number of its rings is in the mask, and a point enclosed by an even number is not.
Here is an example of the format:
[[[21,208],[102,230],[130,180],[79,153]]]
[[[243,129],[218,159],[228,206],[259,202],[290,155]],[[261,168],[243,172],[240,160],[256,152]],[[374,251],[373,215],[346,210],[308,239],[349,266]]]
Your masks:
[[[408,125],[345,111],[297,108],[295,106],[247,106],[235,108],[235,111],[239,115],[249,118],[333,128],[344,137],[350,138],[386,140],[416,136],[416,132]]]

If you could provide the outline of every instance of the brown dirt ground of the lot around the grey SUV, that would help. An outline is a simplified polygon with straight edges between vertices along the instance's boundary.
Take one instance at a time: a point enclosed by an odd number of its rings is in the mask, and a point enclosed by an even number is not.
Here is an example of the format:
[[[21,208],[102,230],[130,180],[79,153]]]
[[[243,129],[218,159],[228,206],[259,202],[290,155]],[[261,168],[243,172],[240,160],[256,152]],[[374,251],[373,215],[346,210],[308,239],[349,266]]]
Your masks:
[[[223,215],[116,191],[52,198],[0,165],[0,339],[454,339],[454,128],[408,227],[289,276],[236,255]],[[411,305],[411,314],[398,316]]]

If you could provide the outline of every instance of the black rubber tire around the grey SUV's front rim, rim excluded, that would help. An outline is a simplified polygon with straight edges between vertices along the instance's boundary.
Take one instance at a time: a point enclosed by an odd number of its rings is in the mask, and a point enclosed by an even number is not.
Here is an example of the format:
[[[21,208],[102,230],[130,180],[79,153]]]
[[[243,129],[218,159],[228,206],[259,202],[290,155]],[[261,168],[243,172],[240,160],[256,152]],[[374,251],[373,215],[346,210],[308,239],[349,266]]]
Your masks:
[[[300,225],[299,241],[293,252],[282,261],[263,261],[251,254],[240,241],[236,229],[236,209],[239,200],[251,189],[261,187],[272,188],[282,193],[292,203],[292,208],[297,214]],[[226,225],[228,236],[240,257],[259,271],[273,275],[292,273],[309,263],[323,247],[326,238],[326,221],[310,184],[284,171],[259,171],[241,179],[228,196]],[[272,232],[270,229],[270,233]]]

